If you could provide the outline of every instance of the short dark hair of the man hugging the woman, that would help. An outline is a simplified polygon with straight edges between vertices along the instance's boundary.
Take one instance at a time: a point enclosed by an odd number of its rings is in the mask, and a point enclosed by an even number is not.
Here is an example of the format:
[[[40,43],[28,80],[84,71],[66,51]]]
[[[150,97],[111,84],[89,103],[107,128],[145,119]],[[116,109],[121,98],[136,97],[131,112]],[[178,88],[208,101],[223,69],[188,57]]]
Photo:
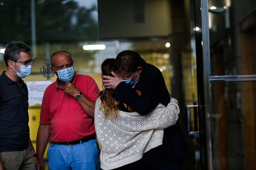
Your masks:
[[[135,51],[125,50],[116,56],[116,72],[122,70],[134,72],[140,66],[141,56]]]

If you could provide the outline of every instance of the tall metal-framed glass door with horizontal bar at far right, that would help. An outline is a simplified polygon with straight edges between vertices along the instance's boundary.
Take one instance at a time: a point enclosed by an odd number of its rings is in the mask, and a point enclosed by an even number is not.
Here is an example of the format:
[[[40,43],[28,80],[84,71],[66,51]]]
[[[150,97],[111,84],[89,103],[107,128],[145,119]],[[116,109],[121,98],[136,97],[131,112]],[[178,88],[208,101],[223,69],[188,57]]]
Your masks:
[[[256,169],[256,2],[201,0],[208,170]]]

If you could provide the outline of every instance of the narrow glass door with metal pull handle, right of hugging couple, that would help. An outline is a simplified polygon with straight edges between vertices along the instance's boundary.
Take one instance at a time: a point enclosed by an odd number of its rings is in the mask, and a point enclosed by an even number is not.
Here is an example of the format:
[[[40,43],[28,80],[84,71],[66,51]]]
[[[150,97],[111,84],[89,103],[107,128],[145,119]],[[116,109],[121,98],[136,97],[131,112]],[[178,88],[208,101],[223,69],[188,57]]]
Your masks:
[[[184,169],[204,170],[207,168],[206,133],[204,122],[204,84],[203,84],[203,54],[202,54],[202,22],[201,2],[187,0],[185,7],[189,16],[190,40],[181,51],[181,91],[180,119],[189,150],[184,158]],[[174,92],[172,92],[173,94]],[[182,125],[186,122],[186,125]]]

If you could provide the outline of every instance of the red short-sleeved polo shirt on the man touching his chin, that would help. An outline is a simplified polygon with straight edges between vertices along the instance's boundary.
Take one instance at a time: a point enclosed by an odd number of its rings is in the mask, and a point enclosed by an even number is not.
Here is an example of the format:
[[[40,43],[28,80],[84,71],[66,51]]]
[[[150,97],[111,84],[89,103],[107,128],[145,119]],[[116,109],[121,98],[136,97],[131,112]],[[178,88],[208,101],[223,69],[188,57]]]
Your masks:
[[[71,142],[95,133],[94,118],[87,115],[78,101],[60,89],[57,80],[49,85],[42,102],[40,124],[50,124],[53,142]],[[77,74],[72,82],[88,99],[95,101],[100,90],[95,81]]]

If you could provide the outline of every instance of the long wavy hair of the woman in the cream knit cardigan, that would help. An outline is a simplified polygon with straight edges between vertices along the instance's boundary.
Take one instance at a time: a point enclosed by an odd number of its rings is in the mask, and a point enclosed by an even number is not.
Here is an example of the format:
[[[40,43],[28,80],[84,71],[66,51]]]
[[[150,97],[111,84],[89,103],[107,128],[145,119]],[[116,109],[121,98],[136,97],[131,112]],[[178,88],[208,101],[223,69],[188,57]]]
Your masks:
[[[104,60],[104,62],[101,64],[101,71],[102,74],[105,76],[112,76],[111,71],[115,72],[116,69],[116,63],[114,58],[108,58]],[[118,109],[118,103],[119,101],[116,101],[112,94],[114,92],[114,89],[106,89],[103,87],[103,93],[100,94],[100,100],[101,104],[100,106],[103,108],[103,114],[104,119],[110,118],[115,119],[119,115],[119,109]]]

